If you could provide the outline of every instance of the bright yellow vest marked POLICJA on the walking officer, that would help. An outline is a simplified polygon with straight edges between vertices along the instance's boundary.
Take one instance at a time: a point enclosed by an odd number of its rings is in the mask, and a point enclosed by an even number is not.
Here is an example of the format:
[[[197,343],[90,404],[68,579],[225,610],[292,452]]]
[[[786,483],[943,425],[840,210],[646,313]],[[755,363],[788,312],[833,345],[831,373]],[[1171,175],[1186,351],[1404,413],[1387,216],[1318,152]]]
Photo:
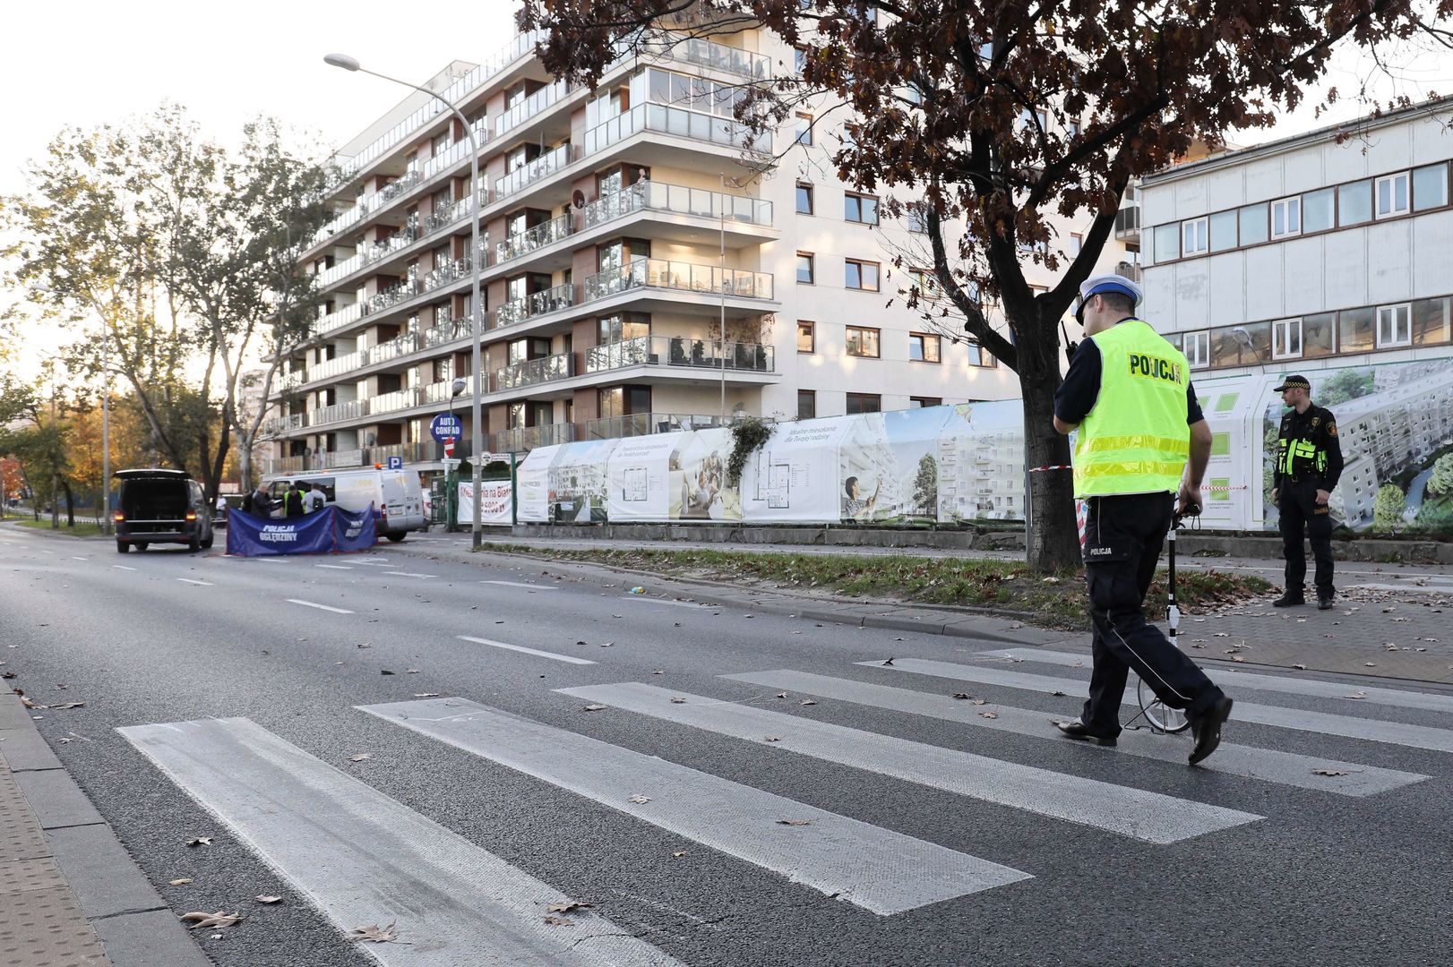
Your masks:
[[[1186,356],[1141,319],[1090,338],[1100,395],[1075,438],[1075,497],[1174,494],[1190,454]]]

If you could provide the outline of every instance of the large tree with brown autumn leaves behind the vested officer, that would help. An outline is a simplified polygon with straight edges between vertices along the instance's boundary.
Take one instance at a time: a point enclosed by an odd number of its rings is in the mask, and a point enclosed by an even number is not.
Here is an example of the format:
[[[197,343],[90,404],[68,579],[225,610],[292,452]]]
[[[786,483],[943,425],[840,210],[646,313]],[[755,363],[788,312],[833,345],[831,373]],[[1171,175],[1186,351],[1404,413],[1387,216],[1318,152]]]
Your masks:
[[[546,70],[590,89],[619,61],[696,38],[766,30],[801,51],[801,67],[774,64],[728,91],[742,166],[767,173],[802,151],[879,195],[881,216],[911,213],[918,251],[894,264],[931,270],[934,292],[897,295],[1019,376],[1026,460],[1051,466],[1069,463],[1051,423],[1061,319],[1126,187],[1196,144],[1270,128],[1343,46],[1375,49],[1376,70],[1395,76],[1396,54],[1411,38],[1437,46],[1449,16],[1453,0],[525,0],[519,23],[545,30]],[[804,148],[798,112],[815,132]],[[1075,213],[1093,222],[1071,253],[1051,219]],[[1059,282],[1032,290],[1024,263]],[[1069,475],[1033,475],[1030,505],[1030,566],[1077,566]]]

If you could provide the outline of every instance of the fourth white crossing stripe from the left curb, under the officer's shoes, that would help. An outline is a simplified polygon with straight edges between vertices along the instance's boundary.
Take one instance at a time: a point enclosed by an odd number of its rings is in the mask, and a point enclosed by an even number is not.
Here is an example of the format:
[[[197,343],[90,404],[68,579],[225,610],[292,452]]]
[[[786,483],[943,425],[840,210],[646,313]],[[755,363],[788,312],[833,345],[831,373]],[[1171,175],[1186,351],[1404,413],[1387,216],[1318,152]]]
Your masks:
[[[866,681],[830,678],[827,675],[786,669],[747,675],[724,675],[724,678],[753,685],[766,685],[769,688],[786,688],[822,698],[851,701],[873,709],[907,711],[915,716],[928,716],[930,719],[943,719],[944,722],[958,722],[998,732],[1068,742],[1051,723],[1052,716],[1032,709],[1014,709],[994,703],[979,707],[946,694],[934,695],[907,688],[876,685]],[[984,711],[992,711],[995,717],[985,719],[981,714]],[[1106,754],[1120,752],[1180,765],[1186,764],[1186,754],[1189,751],[1190,745],[1186,736],[1158,735],[1148,729],[1144,732],[1122,732],[1119,746],[1104,749]],[[1258,749],[1229,742],[1222,742],[1216,749],[1216,755],[1206,759],[1202,768],[1212,772],[1228,772],[1280,786],[1315,788],[1341,796],[1373,796],[1428,778],[1415,772],[1399,772],[1398,770],[1385,770],[1375,765],[1340,762],[1322,756]],[[1345,772],[1345,775],[1315,775],[1312,770]]]

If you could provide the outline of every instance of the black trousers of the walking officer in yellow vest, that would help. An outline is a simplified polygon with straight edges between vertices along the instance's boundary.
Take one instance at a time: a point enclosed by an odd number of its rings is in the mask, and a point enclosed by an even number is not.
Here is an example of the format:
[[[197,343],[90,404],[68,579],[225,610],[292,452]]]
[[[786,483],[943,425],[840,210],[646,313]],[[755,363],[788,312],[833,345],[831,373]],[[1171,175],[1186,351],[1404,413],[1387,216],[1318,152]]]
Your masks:
[[[1094,671],[1084,722],[1096,735],[1120,733],[1120,700],[1135,669],[1167,706],[1194,720],[1222,697],[1206,674],[1145,620],[1145,594],[1171,527],[1170,494],[1085,501],[1085,581],[1094,621]]]

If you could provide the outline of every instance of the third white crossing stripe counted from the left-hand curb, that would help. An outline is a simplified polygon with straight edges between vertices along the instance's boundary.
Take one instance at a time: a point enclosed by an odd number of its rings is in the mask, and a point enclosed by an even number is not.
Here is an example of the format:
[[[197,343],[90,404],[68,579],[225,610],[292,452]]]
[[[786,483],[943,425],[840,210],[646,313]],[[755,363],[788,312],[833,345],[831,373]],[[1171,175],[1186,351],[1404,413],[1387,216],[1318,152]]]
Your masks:
[[[1235,809],[639,682],[556,691],[757,743],[761,743],[764,736],[773,736],[777,740],[767,748],[786,749],[1145,842],[1180,842],[1264,819]],[[671,698],[686,698],[686,701],[674,703]]]

